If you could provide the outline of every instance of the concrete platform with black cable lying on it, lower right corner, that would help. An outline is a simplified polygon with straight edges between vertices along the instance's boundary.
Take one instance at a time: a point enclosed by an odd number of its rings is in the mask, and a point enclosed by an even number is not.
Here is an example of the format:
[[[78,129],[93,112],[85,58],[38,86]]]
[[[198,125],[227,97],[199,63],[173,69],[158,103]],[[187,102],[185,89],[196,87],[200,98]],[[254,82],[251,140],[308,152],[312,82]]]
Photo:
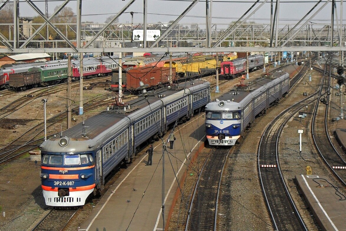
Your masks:
[[[345,195],[326,176],[297,175],[298,186],[315,219],[326,231],[346,231]]]

